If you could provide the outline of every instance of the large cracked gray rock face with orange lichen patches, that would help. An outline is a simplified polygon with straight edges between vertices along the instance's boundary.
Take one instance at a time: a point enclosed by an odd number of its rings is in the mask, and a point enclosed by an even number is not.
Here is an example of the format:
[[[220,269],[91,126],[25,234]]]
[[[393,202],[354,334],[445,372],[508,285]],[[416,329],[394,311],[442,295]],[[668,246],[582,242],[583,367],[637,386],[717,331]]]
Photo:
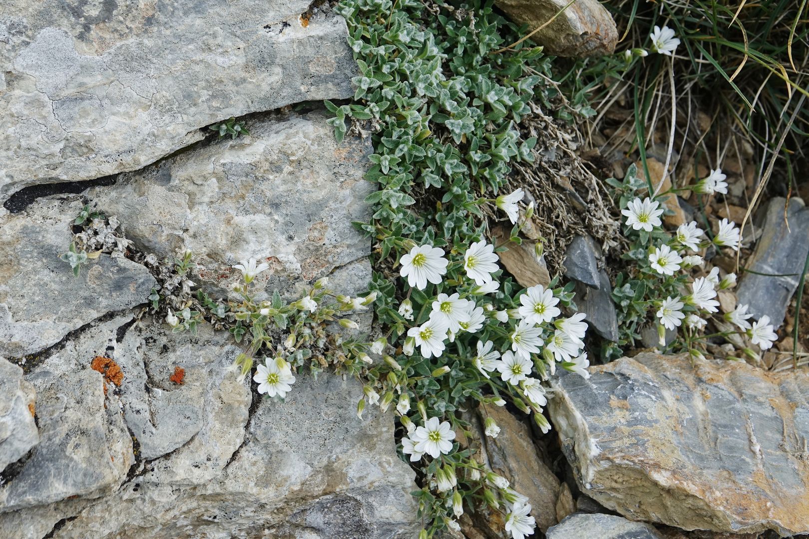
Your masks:
[[[244,343],[144,314],[157,270],[129,252],[191,249],[215,297],[251,257],[263,297],[366,289],[370,144],[286,107],[352,95],[345,21],[308,1],[80,3],[0,6],[0,537],[413,537],[392,416],[358,419],[362,386],[326,374],[261,398],[227,371]],[[205,129],[243,115],[249,135]],[[133,243],[74,277],[60,255],[87,203]]]

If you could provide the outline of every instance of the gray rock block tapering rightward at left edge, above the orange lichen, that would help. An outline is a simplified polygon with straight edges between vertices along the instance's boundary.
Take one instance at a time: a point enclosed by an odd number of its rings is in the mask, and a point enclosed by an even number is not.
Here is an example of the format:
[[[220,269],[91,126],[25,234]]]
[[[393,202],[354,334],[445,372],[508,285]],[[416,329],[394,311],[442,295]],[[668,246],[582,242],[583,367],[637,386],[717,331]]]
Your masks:
[[[101,255],[78,277],[59,259],[82,203],[40,199],[0,216],[0,354],[19,357],[58,343],[111,311],[146,302],[155,279],[128,259]]]

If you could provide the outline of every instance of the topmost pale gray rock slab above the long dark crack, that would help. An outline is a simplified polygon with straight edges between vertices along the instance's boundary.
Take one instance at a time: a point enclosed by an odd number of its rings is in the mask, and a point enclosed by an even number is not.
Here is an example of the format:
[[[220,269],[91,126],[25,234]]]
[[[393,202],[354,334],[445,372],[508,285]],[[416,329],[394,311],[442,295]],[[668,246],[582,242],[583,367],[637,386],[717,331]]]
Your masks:
[[[310,0],[3,2],[0,201],[136,170],[231,116],[348,98],[346,36]]]

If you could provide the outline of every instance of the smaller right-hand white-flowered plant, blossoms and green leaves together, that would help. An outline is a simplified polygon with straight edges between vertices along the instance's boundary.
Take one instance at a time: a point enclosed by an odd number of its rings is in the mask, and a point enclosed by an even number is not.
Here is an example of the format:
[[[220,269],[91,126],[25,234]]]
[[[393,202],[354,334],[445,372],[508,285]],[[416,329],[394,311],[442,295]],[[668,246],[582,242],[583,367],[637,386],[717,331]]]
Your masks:
[[[693,190],[703,195],[726,193],[725,178],[722,171],[716,169],[697,182]],[[623,258],[633,263],[630,267],[634,269],[616,278],[612,297],[618,310],[621,338],[618,345],[608,347],[607,359],[620,356],[621,346],[633,345],[635,339],[640,339],[642,328],[648,325],[657,328],[660,347],[672,352],[687,350],[694,357],[707,353],[707,339],[734,333],[746,336],[749,343],[760,350],[771,347],[777,335],[769,318],[763,316],[751,324],[748,318],[753,314],[748,313],[748,305],[739,305],[735,311],[718,316],[718,291],[734,287],[735,274],[721,276],[718,267],[708,272],[702,270],[705,264],[702,255],[709,246],[738,251],[739,228],[735,223],[727,219],[718,221],[713,238],[696,221],[680,225],[670,234],[663,229],[664,209],[657,199],[675,196],[678,189],[661,193],[654,200],[633,196],[644,187],[637,182],[635,166],[629,168],[623,182],[609,181],[616,187],[616,194],[621,194],[625,205],[621,213],[626,217],[625,234],[631,244]],[[705,328],[714,317],[717,322],[730,322],[738,331],[722,326],[717,327],[714,334],[705,335]],[[667,341],[667,331],[676,331],[673,343]],[[749,347],[742,352],[756,357]]]

